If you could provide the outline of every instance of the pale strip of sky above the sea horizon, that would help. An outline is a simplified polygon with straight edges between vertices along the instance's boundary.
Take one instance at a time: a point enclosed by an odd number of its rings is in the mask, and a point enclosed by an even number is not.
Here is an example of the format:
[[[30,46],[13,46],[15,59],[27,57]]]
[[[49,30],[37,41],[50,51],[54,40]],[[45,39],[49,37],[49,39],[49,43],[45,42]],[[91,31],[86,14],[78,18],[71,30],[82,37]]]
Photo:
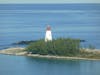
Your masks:
[[[0,4],[8,3],[100,3],[100,0],[0,0]]]

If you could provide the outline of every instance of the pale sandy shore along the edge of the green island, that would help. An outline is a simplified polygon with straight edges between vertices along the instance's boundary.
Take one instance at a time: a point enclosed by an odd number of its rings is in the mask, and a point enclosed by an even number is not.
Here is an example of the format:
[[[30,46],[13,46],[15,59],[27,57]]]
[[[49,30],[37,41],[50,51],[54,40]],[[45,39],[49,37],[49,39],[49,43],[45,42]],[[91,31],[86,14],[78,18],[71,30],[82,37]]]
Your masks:
[[[89,49],[86,49],[85,51],[89,52],[89,53],[100,53],[100,50],[89,50]],[[21,48],[21,47],[8,48],[8,49],[0,50],[0,54],[18,55],[18,56],[31,56],[31,57],[39,57],[39,58],[53,58],[53,59],[100,60],[100,59],[94,59],[94,58],[28,54],[26,51],[24,51],[24,48]]]

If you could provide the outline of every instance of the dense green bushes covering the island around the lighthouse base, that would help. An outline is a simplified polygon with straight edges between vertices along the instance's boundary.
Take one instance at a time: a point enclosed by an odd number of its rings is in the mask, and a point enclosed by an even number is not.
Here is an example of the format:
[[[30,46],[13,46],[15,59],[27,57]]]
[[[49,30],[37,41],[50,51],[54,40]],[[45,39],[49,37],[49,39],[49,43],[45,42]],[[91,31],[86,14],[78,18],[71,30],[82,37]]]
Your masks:
[[[80,52],[80,40],[70,38],[59,38],[49,42],[38,40],[31,43],[26,51],[41,55],[73,56]]]

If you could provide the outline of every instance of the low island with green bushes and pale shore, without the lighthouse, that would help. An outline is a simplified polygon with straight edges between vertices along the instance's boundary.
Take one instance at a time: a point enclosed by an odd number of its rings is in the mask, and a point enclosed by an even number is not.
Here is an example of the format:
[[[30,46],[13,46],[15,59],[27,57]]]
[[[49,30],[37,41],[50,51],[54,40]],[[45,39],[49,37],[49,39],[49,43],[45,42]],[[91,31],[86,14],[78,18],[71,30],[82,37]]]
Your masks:
[[[0,50],[0,54],[23,55],[39,58],[100,60],[100,51],[80,48],[80,39],[58,38],[45,42],[38,40],[26,48],[8,48]]]

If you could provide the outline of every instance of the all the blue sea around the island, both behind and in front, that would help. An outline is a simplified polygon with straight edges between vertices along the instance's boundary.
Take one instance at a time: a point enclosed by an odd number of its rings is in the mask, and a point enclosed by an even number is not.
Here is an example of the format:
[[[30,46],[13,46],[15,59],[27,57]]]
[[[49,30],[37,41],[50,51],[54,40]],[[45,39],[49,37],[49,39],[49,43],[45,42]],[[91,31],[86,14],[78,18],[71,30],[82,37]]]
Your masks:
[[[80,38],[100,49],[100,4],[0,4],[0,50],[22,40]],[[0,75],[100,75],[100,61],[0,55]]]

